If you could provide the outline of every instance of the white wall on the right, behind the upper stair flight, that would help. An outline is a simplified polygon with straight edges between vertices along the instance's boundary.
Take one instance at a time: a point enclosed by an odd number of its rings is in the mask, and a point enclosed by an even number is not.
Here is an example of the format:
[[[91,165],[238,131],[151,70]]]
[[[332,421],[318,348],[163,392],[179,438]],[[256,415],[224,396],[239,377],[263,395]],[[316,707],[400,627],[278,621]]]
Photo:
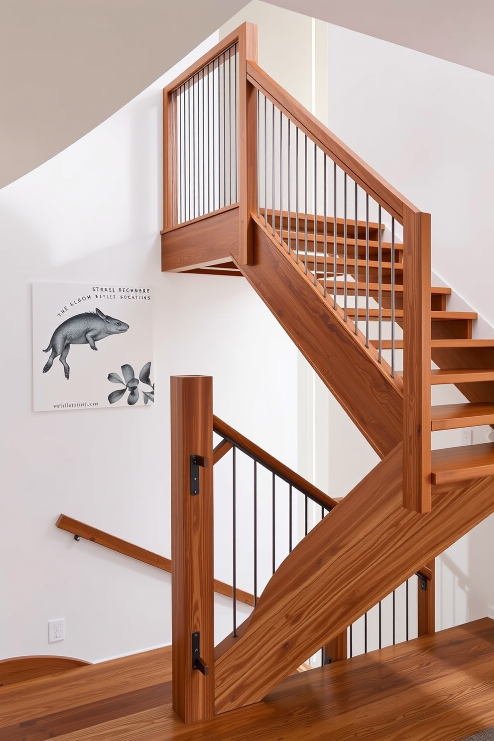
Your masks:
[[[433,270],[487,320],[481,336],[492,336],[494,78],[341,27],[328,33],[330,129],[432,214]],[[450,305],[461,303],[453,296]],[[435,394],[435,403],[455,400],[447,389]],[[484,442],[484,428],[474,433]],[[435,444],[455,445],[459,432],[447,434]],[[438,559],[439,628],[494,605],[493,531],[491,517]]]

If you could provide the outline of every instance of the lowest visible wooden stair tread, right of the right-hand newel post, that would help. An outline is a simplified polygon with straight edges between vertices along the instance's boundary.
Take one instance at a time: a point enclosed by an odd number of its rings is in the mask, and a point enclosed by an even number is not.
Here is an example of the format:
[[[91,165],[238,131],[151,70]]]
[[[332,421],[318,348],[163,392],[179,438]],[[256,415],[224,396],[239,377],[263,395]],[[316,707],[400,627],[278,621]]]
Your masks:
[[[434,485],[494,476],[494,445],[484,442],[432,451],[431,464]]]

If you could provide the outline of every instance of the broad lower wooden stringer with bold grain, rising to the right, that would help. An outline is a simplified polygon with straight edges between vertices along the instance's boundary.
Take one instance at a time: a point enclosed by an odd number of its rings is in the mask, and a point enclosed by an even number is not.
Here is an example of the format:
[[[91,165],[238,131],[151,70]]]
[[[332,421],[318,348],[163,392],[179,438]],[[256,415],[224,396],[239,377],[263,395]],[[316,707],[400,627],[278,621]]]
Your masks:
[[[494,479],[402,505],[402,446],[302,540],[268,582],[243,632],[215,662],[216,711],[257,702],[304,657],[494,511]],[[240,632],[240,631],[239,631]]]

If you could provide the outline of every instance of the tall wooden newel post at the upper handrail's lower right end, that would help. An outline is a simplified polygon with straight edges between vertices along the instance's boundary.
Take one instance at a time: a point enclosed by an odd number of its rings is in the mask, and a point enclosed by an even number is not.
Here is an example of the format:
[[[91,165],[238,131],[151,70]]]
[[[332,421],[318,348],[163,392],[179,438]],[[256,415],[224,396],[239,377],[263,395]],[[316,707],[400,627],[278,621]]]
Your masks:
[[[430,214],[404,206],[403,505],[429,512]]]

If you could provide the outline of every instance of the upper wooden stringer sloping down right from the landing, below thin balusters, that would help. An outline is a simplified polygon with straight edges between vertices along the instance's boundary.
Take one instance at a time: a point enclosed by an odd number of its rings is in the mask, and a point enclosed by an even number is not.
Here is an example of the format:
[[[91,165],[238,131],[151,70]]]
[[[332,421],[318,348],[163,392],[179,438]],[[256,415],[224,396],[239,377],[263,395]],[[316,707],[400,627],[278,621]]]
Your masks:
[[[242,273],[370,445],[387,455],[403,435],[401,379],[390,378],[389,365],[377,362],[361,333],[350,336],[342,311],[327,305],[301,264],[279,248],[264,222],[253,220],[254,265]]]

